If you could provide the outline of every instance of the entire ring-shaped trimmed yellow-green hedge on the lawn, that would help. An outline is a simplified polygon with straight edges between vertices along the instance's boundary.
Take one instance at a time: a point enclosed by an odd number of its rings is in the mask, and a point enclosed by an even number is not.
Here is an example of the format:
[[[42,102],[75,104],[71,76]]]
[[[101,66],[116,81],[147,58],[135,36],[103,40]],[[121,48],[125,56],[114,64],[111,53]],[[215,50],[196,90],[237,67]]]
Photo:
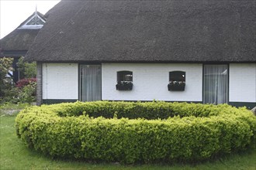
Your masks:
[[[16,133],[61,158],[195,162],[255,145],[256,117],[227,104],[76,102],[22,110]]]

